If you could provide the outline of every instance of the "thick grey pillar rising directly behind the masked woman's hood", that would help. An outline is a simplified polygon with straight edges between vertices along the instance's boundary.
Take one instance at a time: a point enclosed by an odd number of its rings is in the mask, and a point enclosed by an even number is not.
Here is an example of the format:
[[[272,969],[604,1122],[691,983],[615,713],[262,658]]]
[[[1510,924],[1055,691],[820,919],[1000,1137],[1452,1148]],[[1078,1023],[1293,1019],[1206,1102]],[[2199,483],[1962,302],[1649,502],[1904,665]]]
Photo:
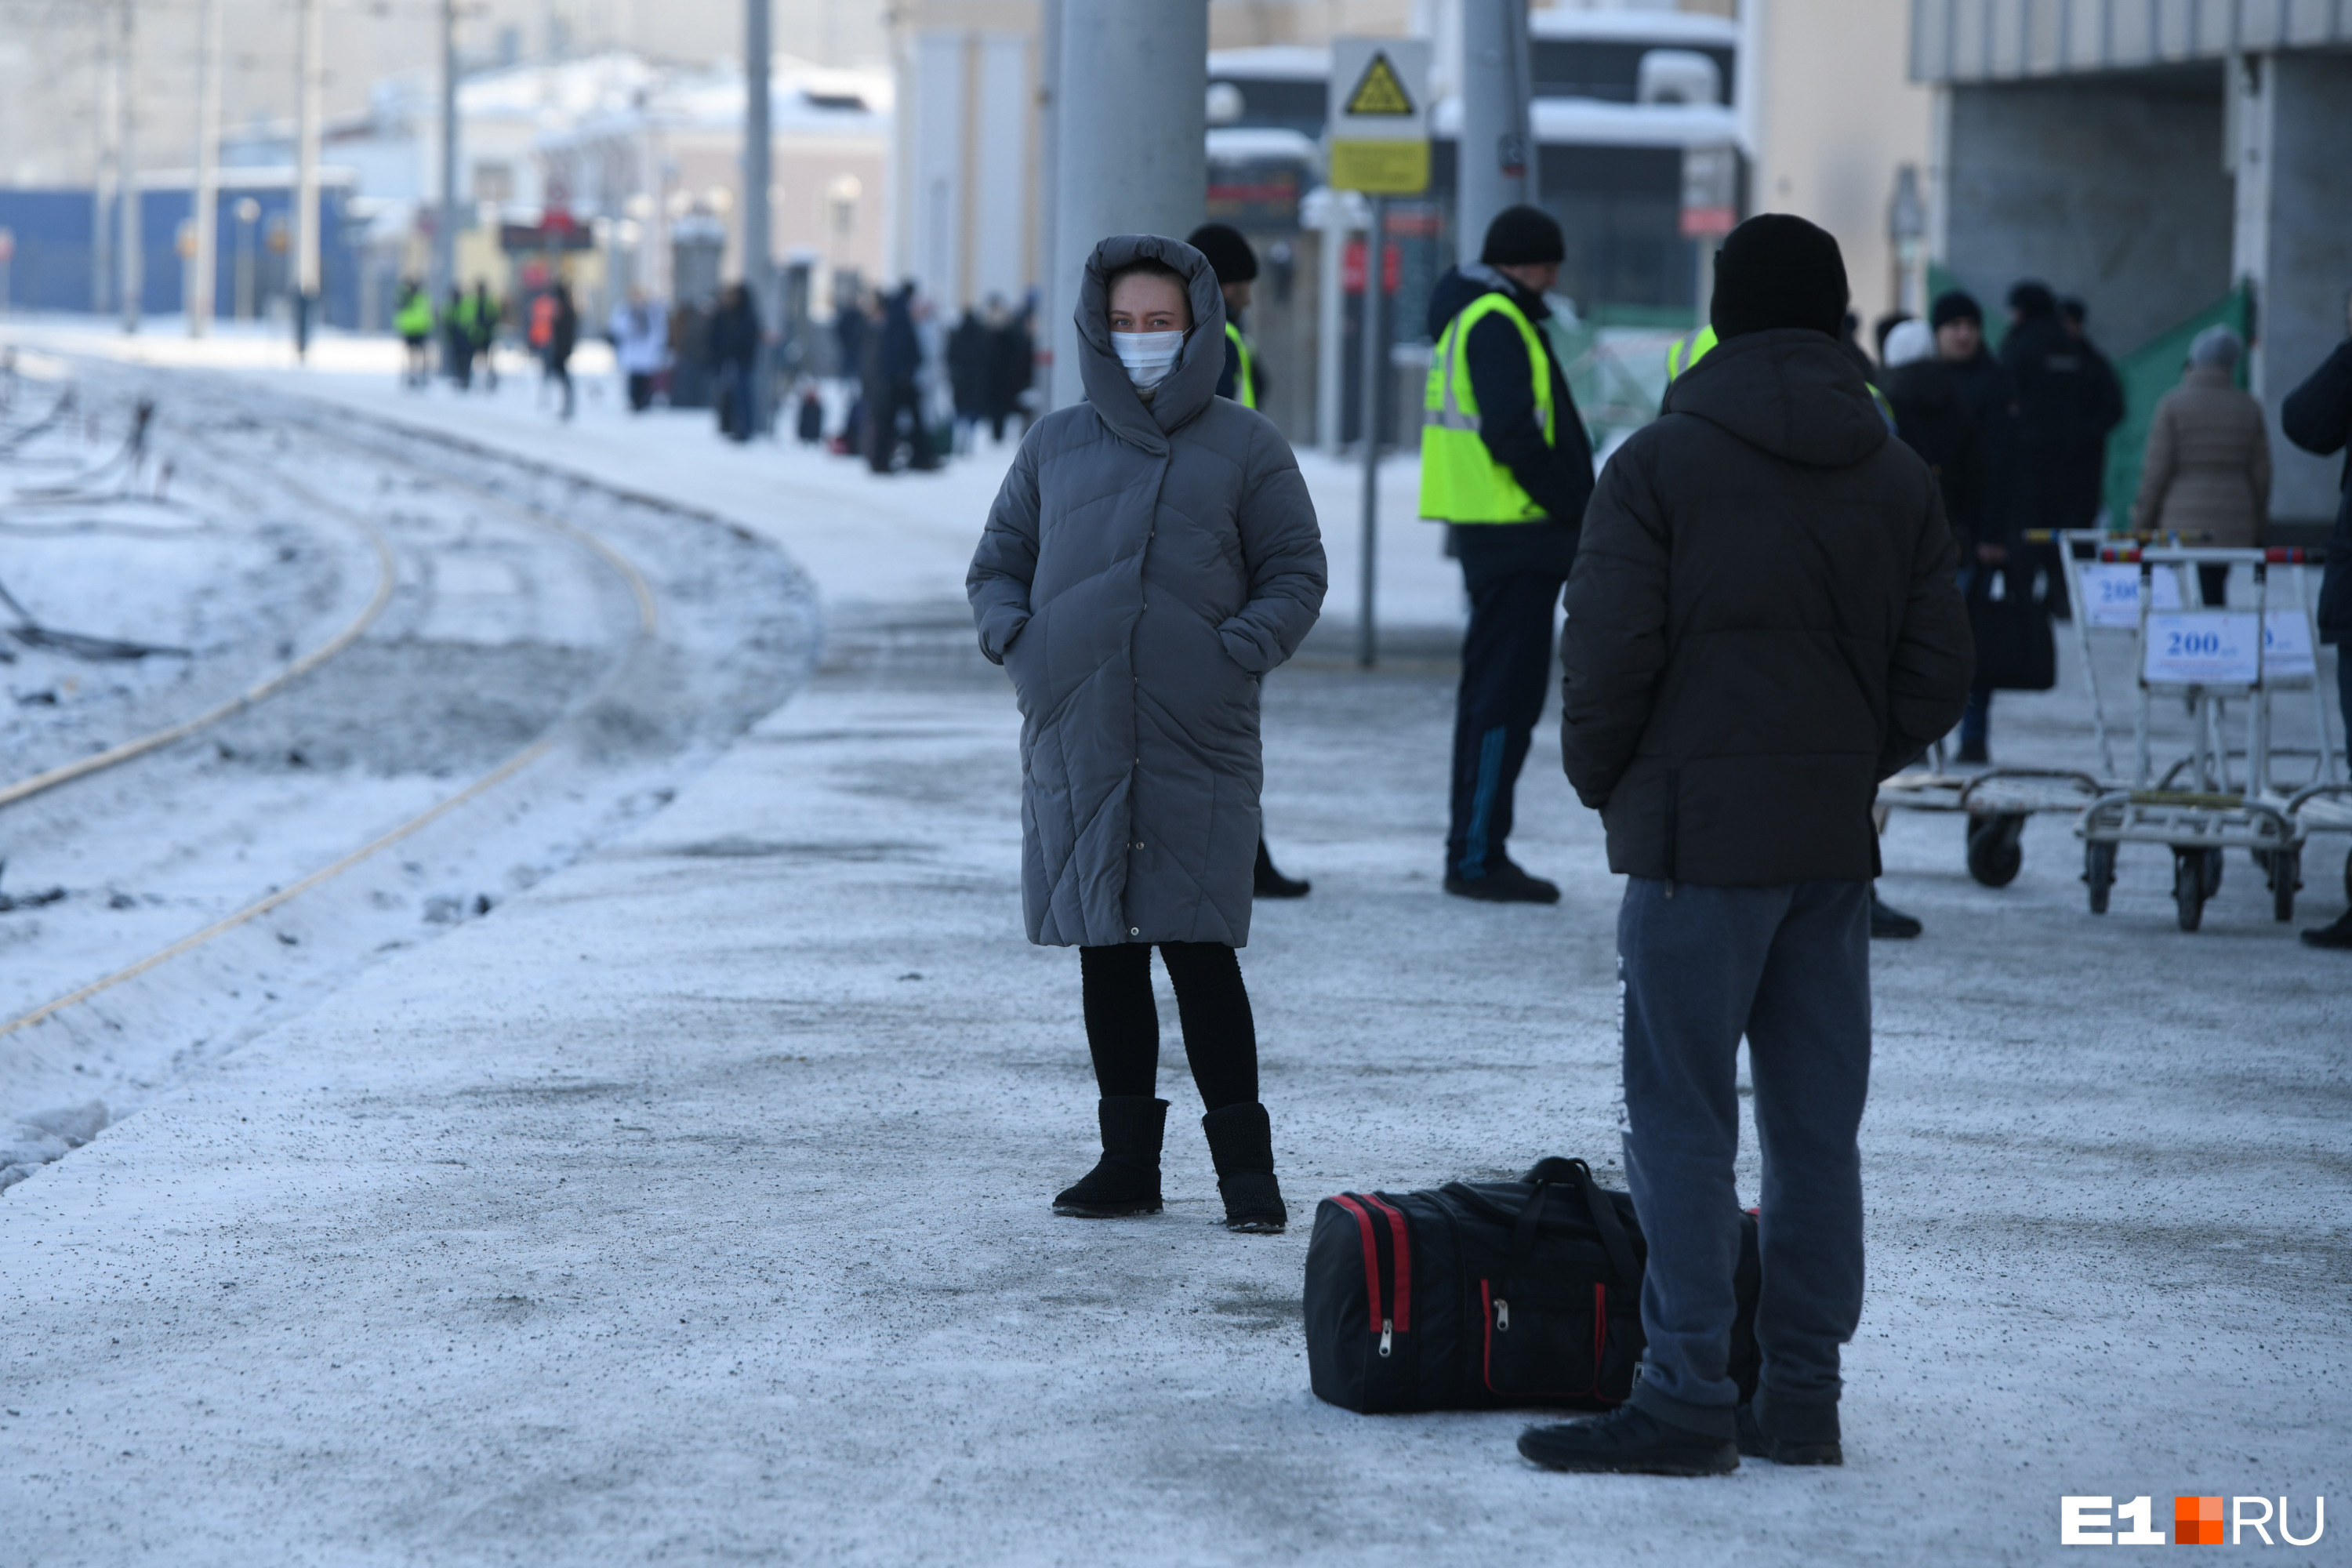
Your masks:
[[[1054,397],[1077,378],[1077,280],[1105,235],[1176,235],[1209,200],[1209,7],[1202,0],[1063,0],[1054,136]]]

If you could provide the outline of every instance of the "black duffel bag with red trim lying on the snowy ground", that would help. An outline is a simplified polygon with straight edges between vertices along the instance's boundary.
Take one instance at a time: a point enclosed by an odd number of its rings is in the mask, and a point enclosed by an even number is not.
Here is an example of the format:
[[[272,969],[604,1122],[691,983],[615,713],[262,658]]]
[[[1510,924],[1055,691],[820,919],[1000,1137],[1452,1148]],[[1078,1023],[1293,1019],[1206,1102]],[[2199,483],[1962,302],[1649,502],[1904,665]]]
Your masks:
[[[1581,1159],[1517,1182],[1437,1192],[1343,1192],[1308,1241],[1308,1375],[1367,1415],[1555,1406],[1606,1410],[1642,1359],[1642,1265],[1632,1199]],[[1731,1375],[1755,1394],[1755,1215],[1740,1215]]]

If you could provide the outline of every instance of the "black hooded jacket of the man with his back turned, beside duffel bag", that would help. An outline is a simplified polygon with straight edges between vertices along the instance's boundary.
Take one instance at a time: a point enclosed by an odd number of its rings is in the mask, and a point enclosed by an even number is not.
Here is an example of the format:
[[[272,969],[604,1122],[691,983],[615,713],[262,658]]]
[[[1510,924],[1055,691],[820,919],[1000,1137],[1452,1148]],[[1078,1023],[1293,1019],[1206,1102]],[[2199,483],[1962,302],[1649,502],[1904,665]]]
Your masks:
[[[1877,783],[1976,651],[1926,463],[1802,327],[1722,341],[1602,473],[1569,576],[1559,750],[1609,870],[1877,875]]]

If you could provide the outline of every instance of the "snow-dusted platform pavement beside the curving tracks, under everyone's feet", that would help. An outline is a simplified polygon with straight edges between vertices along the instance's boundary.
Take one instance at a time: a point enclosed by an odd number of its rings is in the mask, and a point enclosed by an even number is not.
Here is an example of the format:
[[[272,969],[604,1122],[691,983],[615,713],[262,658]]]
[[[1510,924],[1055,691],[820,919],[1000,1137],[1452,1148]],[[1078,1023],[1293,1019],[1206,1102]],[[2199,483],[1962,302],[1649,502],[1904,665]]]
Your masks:
[[[1992,891],[1898,813],[1884,891],[1929,931],[1872,954],[1846,1467],[1534,1472],[1519,1415],[1319,1406],[1298,1291],[1324,1192],[1613,1157],[1618,886],[1545,745],[1515,851],[1566,898],[1465,905],[1444,665],[1272,677],[1268,823],[1315,893],[1244,973],[1298,1227],[1214,1225],[1174,1037],[1169,1213],[1056,1220],[1094,1088],[955,614],[988,468],[369,376],[303,383],[807,548],[835,637],[642,827],[0,1197],[12,1561],[2011,1563],[2065,1556],[2063,1495],[2286,1495],[2298,1530],[2343,1495],[2352,985],[2241,858],[2183,936],[2157,853],[2093,919],[2060,818]],[[2004,762],[2089,759],[2077,675],[2002,698]]]

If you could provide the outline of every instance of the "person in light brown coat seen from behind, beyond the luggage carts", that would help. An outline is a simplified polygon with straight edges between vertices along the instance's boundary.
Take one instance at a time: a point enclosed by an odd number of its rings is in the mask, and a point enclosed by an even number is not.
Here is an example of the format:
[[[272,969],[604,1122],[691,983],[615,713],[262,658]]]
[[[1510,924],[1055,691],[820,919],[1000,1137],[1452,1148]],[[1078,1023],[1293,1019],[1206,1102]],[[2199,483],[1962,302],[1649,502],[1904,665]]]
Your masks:
[[[2227,327],[2206,327],[2190,343],[2190,369],[2147,425],[2140,498],[2131,522],[2143,534],[2178,534],[2183,543],[2244,550],[2270,524],[2270,433],[2263,404],[2237,386],[2244,343]],[[2223,604],[2227,567],[2199,567],[2206,604]]]

